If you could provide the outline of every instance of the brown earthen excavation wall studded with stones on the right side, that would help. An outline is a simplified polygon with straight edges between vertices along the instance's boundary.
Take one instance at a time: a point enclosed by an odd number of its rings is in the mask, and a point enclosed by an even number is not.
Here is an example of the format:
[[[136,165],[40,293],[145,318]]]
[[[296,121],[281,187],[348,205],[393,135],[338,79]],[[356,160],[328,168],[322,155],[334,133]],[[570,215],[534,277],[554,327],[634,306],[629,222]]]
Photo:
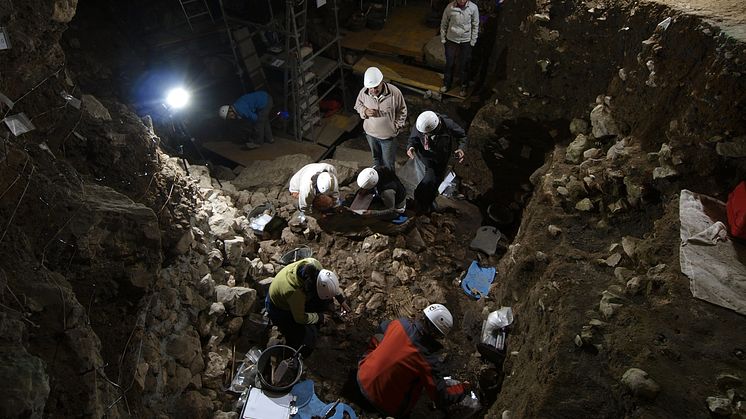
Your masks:
[[[689,294],[678,270],[678,192],[725,199],[743,176],[743,43],[656,3],[516,2],[503,7],[492,59],[493,95],[472,122],[461,169],[472,191],[500,187],[483,176],[482,157],[505,121],[592,124],[554,132],[500,261],[495,307],[513,306],[517,323],[487,417],[707,417],[717,372],[743,371],[733,354],[744,342],[713,350],[701,339],[732,336],[742,319]],[[603,118],[591,115],[599,105]],[[601,126],[609,121],[611,130]],[[578,133],[588,138],[580,152],[597,151],[569,161]],[[653,176],[656,167],[673,171]],[[584,197],[591,207],[579,210]],[[641,243],[636,252],[611,247],[624,236]],[[615,253],[621,260],[607,263]],[[635,275],[643,291],[630,290]],[[602,313],[604,291],[621,297],[619,311]],[[620,383],[630,367],[658,380],[657,398]]]

